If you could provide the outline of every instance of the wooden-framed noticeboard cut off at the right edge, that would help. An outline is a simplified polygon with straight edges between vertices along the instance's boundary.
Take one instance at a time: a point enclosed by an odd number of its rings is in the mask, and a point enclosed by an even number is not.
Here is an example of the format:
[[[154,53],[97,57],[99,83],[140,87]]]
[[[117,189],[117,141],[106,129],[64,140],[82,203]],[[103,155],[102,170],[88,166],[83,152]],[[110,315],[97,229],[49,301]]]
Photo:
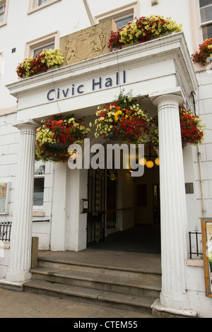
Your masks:
[[[201,219],[206,296],[212,297],[212,218]]]

